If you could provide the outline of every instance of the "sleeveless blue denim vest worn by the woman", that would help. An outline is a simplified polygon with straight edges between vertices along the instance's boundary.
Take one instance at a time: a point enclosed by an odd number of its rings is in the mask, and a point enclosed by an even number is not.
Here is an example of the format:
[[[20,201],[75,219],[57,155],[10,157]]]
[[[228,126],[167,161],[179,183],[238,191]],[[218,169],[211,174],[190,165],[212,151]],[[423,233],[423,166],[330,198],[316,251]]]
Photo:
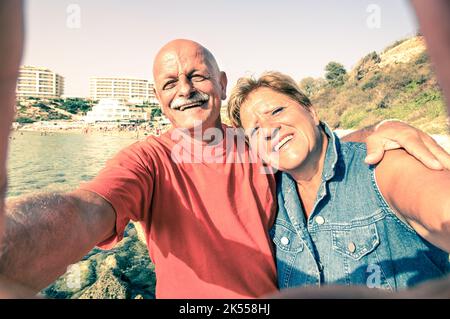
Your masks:
[[[279,208],[270,235],[279,288],[340,284],[397,290],[449,272],[448,253],[389,208],[375,167],[364,163],[365,144],[342,143],[326,124],[322,128],[328,147],[307,220],[295,181],[277,174]]]

